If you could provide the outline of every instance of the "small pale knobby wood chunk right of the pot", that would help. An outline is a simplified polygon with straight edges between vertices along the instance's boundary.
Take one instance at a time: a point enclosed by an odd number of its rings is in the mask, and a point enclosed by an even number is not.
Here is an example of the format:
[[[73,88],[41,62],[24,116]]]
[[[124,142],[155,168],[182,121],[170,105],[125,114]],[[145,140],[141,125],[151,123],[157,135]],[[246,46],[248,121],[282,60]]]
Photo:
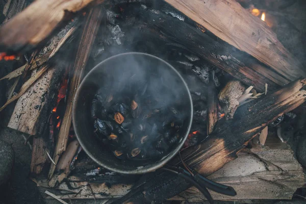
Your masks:
[[[230,81],[221,89],[218,99],[225,104],[224,114],[227,120],[234,117],[239,106],[238,99],[244,90],[244,86],[239,81]]]

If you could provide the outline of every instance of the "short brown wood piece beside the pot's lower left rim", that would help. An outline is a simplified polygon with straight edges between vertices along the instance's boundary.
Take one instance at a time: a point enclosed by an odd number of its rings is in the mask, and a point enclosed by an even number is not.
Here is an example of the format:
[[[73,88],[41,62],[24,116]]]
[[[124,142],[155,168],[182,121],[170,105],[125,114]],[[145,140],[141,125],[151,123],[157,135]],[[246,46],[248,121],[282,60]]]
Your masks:
[[[78,148],[79,148],[78,140],[74,140],[69,143],[66,151],[64,152],[64,154],[62,155],[60,161],[56,166],[56,169],[59,172],[52,176],[52,178],[48,182],[48,186],[55,187],[56,184],[62,183],[62,181],[69,175],[70,164],[74,158],[74,155],[77,153]]]

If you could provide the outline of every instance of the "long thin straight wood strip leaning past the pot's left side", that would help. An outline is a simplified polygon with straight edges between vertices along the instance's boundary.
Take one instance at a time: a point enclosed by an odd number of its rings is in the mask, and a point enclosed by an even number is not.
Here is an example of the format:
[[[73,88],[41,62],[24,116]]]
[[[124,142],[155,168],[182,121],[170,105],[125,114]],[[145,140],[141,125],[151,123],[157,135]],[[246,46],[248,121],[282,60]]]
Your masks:
[[[56,164],[59,161],[60,155],[66,150],[68,134],[72,121],[72,101],[83,78],[83,72],[91,52],[92,44],[99,30],[103,14],[103,10],[100,6],[98,6],[90,10],[85,20],[77,56],[75,57],[74,61],[74,75],[70,82],[67,107],[62,119],[58,141],[53,157],[53,160]],[[54,170],[55,166],[51,166],[48,174],[49,178],[52,177]]]

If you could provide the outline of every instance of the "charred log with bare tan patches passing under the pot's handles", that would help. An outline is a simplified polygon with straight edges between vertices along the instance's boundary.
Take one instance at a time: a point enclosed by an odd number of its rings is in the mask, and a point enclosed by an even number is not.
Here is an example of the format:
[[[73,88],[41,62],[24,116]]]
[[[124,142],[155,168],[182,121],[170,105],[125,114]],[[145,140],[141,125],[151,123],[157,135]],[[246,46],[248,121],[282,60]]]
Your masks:
[[[234,160],[237,152],[279,115],[304,103],[306,90],[302,88],[305,84],[306,79],[297,80],[271,95],[239,107],[233,120],[223,123],[219,121],[215,131],[205,141],[183,150],[184,161],[205,176],[217,171],[224,164]],[[180,164],[181,161],[178,157],[171,162],[171,165]],[[176,186],[176,188],[169,186]],[[127,195],[113,203],[159,202],[171,198],[189,187],[188,182],[175,175],[156,172],[144,177]]]

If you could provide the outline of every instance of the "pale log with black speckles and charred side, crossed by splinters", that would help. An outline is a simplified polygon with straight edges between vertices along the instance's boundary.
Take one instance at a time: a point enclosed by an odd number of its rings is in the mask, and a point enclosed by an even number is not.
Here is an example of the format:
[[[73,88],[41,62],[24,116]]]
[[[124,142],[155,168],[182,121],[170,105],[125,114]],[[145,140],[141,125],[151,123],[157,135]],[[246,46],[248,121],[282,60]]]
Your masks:
[[[60,34],[65,38],[74,27],[63,29]],[[70,34],[70,33],[69,33]],[[55,36],[51,43],[47,46],[53,48],[61,46],[65,41],[61,41],[59,36]],[[55,49],[54,48],[54,49]],[[47,50],[47,48],[45,49]],[[68,52],[69,53],[69,52]],[[44,64],[49,59],[50,51],[41,53],[39,59],[34,62],[34,67],[38,64]],[[68,58],[69,56],[67,56]],[[38,62],[36,64],[36,62]],[[48,69],[40,79],[38,79],[17,101],[14,112],[9,121],[8,127],[30,135],[41,135],[48,123],[51,105],[55,102],[58,95],[60,82],[62,81],[62,73],[66,69],[65,64],[59,64]],[[24,69],[24,68],[23,68]],[[31,69],[31,68],[30,68]],[[23,70],[14,74],[15,77],[21,74]],[[15,73],[15,72],[14,72]],[[36,71],[33,71],[35,74]]]

